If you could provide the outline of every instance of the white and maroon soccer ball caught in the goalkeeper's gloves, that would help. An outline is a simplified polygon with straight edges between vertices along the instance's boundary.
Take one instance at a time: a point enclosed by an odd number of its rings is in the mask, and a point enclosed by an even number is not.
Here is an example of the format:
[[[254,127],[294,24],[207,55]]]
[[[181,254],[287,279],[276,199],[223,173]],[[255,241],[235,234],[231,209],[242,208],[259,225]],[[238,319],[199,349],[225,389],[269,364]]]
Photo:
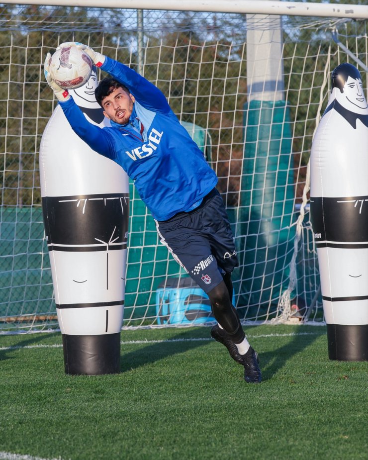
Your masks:
[[[49,72],[63,90],[74,90],[86,84],[92,73],[92,60],[83,50],[70,46],[51,56]]]

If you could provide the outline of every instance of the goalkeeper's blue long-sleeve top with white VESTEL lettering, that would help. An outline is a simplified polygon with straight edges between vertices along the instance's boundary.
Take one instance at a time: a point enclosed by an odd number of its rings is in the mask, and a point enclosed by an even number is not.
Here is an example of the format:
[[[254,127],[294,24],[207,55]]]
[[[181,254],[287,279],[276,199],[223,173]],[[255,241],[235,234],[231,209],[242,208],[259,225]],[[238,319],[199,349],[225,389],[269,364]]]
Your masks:
[[[60,105],[72,129],[92,150],[124,169],[156,220],[187,211],[217,184],[215,172],[157,87],[108,57],[101,69],[134,95],[129,122],[92,125],[70,98]]]

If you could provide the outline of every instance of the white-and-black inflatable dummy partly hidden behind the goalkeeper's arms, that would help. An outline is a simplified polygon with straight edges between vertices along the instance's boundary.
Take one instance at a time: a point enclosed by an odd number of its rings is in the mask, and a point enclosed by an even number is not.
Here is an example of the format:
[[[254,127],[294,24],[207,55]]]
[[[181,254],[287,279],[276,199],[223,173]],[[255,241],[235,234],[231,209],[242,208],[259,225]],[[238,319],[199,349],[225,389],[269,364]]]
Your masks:
[[[95,72],[70,90],[86,118],[109,121],[94,98]],[[120,371],[129,183],[113,161],[92,151],[54,110],[40,146],[42,210],[65,372]]]

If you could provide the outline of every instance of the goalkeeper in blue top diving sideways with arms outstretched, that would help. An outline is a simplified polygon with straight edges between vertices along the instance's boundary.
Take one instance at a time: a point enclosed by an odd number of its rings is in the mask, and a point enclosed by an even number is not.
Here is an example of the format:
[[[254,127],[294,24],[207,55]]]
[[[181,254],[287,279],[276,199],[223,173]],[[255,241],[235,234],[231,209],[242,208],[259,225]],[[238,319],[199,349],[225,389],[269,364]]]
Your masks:
[[[215,172],[157,87],[86,45],[60,45],[69,46],[83,49],[95,66],[111,76],[95,90],[111,123],[102,129],[92,125],[69,92],[52,80],[50,54],[46,56],[47,83],[72,129],[92,150],[118,163],[134,181],[155,219],[161,242],[210,299],[218,322],[211,336],[244,366],[247,382],[261,382],[258,354],[249,345],[231,303],[231,272],[238,259],[225,206],[215,188]]]

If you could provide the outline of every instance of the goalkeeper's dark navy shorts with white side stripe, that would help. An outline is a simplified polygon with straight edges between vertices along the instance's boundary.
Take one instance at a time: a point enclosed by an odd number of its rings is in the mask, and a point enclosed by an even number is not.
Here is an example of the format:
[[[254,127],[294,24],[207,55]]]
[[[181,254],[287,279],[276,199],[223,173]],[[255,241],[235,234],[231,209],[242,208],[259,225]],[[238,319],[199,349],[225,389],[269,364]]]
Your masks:
[[[224,202],[215,188],[193,211],[156,220],[156,227],[161,243],[206,293],[239,265]]]

